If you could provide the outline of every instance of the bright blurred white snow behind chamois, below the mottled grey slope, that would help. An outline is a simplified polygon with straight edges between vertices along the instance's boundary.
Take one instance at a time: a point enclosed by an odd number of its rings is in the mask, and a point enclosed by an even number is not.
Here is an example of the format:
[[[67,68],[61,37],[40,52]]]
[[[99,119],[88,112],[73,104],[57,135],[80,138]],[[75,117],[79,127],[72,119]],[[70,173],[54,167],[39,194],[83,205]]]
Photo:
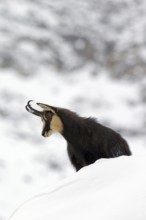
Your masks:
[[[90,68],[58,75],[42,70],[42,74],[31,78],[12,72],[0,74],[0,219],[5,220],[41,188],[74,173],[62,137],[41,137],[40,120],[24,108],[29,99],[96,117],[119,130],[134,155],[146,154],[145,105],[140,93],[145,79],[130,83],[89,72]]]

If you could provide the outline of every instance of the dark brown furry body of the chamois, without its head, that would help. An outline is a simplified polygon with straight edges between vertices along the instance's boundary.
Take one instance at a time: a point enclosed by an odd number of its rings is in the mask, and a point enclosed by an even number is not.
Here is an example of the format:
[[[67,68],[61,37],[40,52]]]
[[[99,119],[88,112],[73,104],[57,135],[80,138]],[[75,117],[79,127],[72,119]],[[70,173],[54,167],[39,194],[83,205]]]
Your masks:
[[[101,125],[93,118],[83,118],[66,109],[57,112],[63,123],[71,163],[78,171],[100,158],[130,156],[127,142],[120,134]]]

